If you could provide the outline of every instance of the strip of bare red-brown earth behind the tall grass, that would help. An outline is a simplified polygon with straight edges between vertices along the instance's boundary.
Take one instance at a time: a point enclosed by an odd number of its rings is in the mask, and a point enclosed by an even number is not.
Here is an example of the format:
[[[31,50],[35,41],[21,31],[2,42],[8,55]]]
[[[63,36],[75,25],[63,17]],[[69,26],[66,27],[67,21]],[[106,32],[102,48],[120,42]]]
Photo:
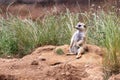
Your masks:
[[[84,1],[84,0],[83,0]],[[72,13],[81,13],[89,10],[105,10],[111,9],[116,5],[116,10],[119,9],[119,3],[115,4],[114,0],[108,2],[99,2],[100,0],[93,0],[94,3],[79,3],[79,4],[54,4],[42,6],[40,4],[10,4],[0,5],[0,17],[7,17],[8,14],[19,16],[20,18],[31,18],[32,20],[38,20],[44,18],[46,15],[58,15],[66,12],[69,9]],[[94,6],[93,6],[94,5]],[[112,5],[112,6],[111,6]],[[100,9],[101,8],[101,9]],[[119,10],[117,11],[120,12]]]

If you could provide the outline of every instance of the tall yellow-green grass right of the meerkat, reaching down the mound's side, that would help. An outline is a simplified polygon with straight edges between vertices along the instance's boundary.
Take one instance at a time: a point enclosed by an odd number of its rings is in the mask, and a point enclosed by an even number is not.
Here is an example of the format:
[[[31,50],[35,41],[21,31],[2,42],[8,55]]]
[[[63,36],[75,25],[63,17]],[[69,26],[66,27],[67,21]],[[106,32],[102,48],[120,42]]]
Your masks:
[[[85,14],[88,18],[87,41],[103,47],[104,59],[103,67],[105,80],[111,75],[120,72],[120,17],[115,12],[105,13],[100,11]]]

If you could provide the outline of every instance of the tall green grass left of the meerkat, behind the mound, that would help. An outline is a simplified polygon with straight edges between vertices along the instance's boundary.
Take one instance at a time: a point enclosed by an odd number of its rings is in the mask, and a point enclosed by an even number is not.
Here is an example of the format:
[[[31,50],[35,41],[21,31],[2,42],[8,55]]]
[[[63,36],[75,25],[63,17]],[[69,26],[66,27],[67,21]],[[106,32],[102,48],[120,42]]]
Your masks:
[[[69,44],[77,22],[78,14],[69,11],[38,21],[12,15],[0,18],[0,54],[23,56],[38,46]]]

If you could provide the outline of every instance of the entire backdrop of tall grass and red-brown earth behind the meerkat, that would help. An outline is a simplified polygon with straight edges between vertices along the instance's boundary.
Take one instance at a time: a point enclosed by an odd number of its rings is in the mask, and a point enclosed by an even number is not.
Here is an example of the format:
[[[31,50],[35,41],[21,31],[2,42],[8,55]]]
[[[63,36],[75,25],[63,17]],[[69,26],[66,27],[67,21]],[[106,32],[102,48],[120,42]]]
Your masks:
[[[120,1],[73,1],[0,0],[0,55],[23,57],[38,46],[69,44],[75,24],[82,21],[88,26],[87,43],[104,48],[105,78],[119,73]]]

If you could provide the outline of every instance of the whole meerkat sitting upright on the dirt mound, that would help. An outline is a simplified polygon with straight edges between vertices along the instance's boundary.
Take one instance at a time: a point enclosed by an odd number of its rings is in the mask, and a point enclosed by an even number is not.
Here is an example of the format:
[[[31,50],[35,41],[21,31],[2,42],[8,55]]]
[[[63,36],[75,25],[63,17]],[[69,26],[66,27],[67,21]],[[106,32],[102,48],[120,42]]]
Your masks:
[[[75,26],[77,31],[73,34],[70,42],[70,54],[76,54],[76,58],[80,58],[81,54],[85,51],[84,44],[86,39],[86,26],[84,23],[77,23]]]

